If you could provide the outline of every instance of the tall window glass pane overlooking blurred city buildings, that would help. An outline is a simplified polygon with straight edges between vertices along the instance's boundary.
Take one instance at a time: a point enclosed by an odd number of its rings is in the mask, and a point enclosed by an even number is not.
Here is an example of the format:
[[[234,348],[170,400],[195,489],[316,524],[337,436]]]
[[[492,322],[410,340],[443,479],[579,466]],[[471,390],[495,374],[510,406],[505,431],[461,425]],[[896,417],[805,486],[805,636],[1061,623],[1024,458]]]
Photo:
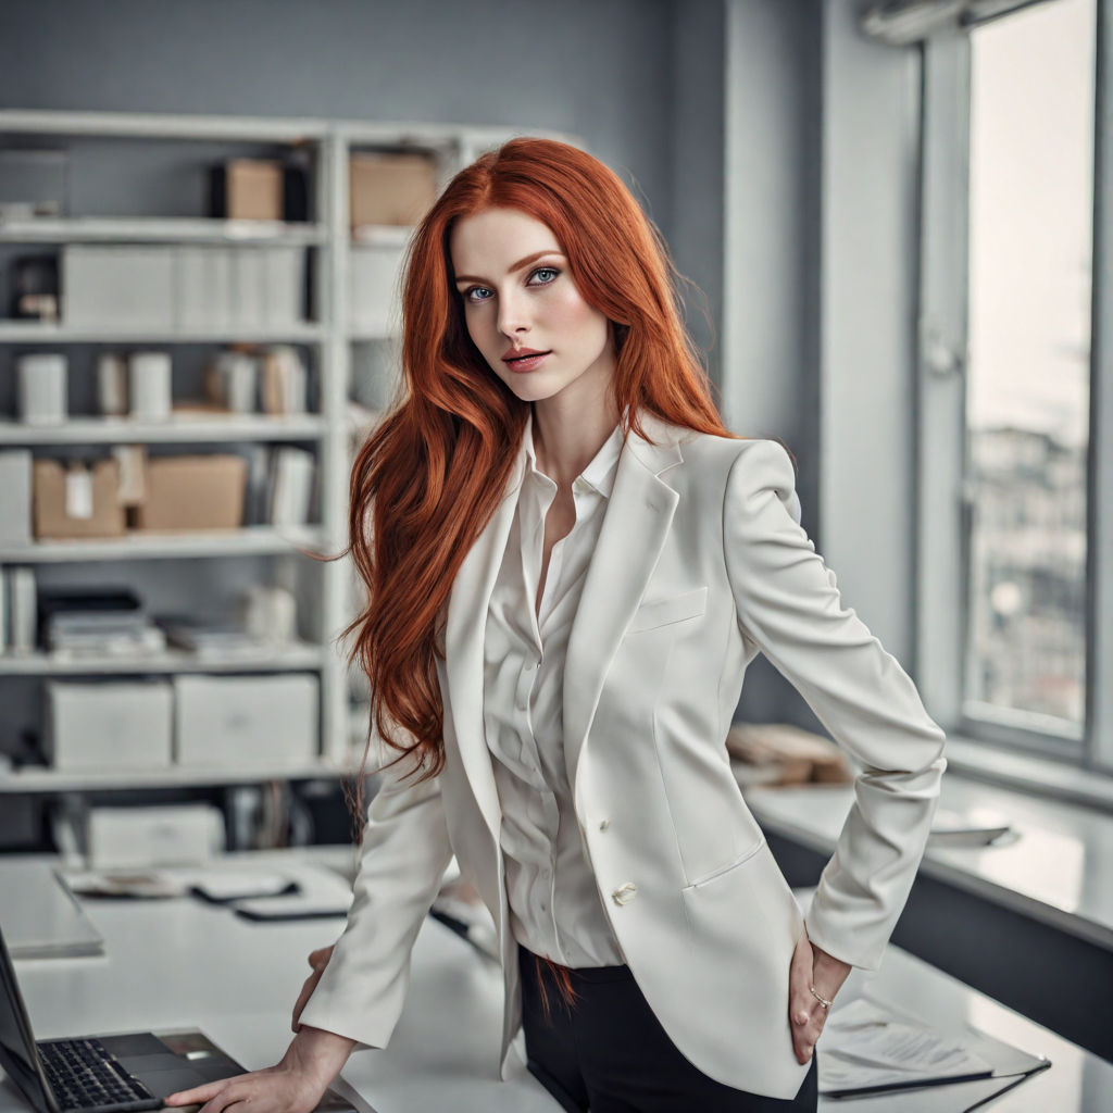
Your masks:
[[[966,715],[1081,737],[1096,0],[972,35]]]

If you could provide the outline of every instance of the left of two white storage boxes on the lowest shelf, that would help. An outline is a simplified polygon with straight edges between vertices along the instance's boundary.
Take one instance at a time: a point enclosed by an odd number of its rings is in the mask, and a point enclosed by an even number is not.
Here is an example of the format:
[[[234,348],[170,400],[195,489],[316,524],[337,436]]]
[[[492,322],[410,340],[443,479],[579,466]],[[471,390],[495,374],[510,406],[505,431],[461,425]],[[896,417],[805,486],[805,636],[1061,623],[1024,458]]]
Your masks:
[[[43,751],[55,769],[149,769],[170,764],[174,692],[149,681],[47,682]]]

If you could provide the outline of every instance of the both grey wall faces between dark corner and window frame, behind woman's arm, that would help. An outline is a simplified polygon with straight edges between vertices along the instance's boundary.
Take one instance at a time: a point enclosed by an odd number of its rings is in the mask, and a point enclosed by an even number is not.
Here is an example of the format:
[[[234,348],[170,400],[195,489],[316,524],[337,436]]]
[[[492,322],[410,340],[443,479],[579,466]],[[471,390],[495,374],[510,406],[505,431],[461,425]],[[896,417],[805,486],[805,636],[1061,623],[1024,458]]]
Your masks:
[[[728,0],[728,424],[797,457],[844,604],[913,664],[918,55],[858,0]],[[746,718],[815,726],[761,661]]]

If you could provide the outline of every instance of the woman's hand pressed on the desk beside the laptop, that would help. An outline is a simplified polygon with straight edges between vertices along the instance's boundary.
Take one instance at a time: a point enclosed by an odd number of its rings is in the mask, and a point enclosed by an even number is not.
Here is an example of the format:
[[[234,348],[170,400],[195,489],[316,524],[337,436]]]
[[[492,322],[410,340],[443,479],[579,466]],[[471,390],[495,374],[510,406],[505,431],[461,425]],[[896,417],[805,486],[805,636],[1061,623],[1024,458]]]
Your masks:
[[[328,1083],[339,1074],[355,1043],[335,1032],[305,1025],[275,1066],[181,1090],[164,1101],[167,1105],[199,1104],[200,1113],[220,1113],[240,1102],[249,1103],[252,1113],[311,1113]]]

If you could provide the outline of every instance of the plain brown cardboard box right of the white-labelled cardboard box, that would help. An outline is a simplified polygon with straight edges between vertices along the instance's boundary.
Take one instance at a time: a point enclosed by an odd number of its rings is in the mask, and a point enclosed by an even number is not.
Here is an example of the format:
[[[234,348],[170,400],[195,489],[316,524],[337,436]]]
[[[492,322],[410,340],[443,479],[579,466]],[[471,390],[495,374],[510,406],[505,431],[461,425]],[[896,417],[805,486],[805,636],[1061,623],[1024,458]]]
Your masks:
[[[136,529],[238,530],[247,462],[242,456],[156,456],[147,462],[147,498]]]

